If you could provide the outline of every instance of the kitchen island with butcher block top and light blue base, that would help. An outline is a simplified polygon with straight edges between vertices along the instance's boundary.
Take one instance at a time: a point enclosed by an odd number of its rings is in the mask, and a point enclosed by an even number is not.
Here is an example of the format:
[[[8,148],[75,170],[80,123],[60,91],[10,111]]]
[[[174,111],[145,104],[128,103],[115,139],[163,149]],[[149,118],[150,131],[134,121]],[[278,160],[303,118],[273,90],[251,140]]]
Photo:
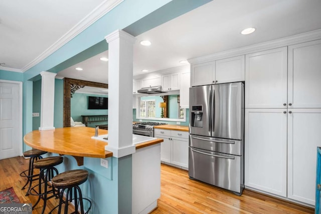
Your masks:
[[[95,129],[90,127],[35,130],[26,134],[24,141],[33,148],[64,155],[59,172],[80,168],[89,171],[88,181],[81,189],[83,195],[96,204],[92,213],[119,213],[121,210],[147,213],[154,209],[161,195],[160,143],[163,139],[137,143],[135,153],[115,158],[112,152],[105,150],[107,142],[92,139],[94,134]],[[108,131],[98,130],[98,134],[108,134]],[[124,206],[130,207],[125,209]]]

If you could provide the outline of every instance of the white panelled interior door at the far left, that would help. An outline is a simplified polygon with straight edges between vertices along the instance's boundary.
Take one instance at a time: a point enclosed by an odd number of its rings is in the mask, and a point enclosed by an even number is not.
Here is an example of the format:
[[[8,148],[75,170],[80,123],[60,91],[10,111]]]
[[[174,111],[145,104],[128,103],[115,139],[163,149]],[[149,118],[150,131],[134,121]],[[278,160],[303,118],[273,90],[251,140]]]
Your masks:
[[[0,159],[22,153],[21,82],[0,80]]]

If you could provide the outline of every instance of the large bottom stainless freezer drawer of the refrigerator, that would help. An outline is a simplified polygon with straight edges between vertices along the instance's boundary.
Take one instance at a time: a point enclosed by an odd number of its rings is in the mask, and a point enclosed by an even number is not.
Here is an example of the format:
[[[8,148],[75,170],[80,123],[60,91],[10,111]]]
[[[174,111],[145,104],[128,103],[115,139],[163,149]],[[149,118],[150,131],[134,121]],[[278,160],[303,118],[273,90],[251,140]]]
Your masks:
[[[237,193],[243,190],[242,156],[189,148],[189,176]]]

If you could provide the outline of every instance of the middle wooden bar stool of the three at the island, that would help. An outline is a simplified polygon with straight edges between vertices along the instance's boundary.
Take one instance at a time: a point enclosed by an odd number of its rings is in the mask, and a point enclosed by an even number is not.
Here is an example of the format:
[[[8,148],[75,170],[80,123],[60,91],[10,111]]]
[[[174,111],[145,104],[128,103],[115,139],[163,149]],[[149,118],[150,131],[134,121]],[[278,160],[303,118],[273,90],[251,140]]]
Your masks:
[[[36,207],[40,199],[44,200],[44,206],[41,213],[44,213],[48,199],[52,197],[58,198],[58,192],[56,192],[57,190],[55,190],[49,181],[51,181],[52,178],[58,174],[58,170],[54,166],[62,163],[63,159],[64,158],[61,156],[54,156],[39,159],[34,162],[34,167],[40,169],[39,183],[31,188],[30,194],[38,195],[38,200],[32,208]],[[48,196],[51,193],[52,195]]]

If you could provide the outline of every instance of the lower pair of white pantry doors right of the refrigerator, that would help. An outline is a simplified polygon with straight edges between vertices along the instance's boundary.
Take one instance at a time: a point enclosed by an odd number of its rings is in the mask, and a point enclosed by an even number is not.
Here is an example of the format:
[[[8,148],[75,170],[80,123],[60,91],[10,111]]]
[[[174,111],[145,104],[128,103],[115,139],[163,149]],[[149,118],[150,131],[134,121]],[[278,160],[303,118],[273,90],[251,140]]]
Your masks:
[[[321,109],[245,109],[245,186],[314,205]]]

